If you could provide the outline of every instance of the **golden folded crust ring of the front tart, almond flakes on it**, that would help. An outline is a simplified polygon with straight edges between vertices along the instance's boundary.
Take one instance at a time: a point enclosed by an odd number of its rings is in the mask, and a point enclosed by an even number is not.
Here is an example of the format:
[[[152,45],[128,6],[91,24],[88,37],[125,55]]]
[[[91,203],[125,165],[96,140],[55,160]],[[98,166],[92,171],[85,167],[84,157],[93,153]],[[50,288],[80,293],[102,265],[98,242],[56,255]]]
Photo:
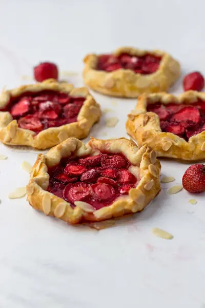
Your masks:
[[[129,196],[120,197],[111,205],[98,209],[94,213],[87,213],[78,206],[72,208],[65,200],[45,190],[49,185],[47,167],[57,165],[63,157],[96,155],[96,151],[99,150],[122,152],[134,166],[139,167],[140,181],[136,188],[130,189]],[[91,138],[85,145],[78,139],[69,138],[53,147],[46,155],[38,155],[27,185],[28,201],[32,207],[44,211],[46,215],[57,216],[71,224],[85,220],[101,221],[136,213],[144,209],[159,193],[160,167],[159,161],[156,160],[156,153],[147,145],[139,149],[134,142],[125,138],[114,140]],[[60,215],[59,209],[62,209]]]

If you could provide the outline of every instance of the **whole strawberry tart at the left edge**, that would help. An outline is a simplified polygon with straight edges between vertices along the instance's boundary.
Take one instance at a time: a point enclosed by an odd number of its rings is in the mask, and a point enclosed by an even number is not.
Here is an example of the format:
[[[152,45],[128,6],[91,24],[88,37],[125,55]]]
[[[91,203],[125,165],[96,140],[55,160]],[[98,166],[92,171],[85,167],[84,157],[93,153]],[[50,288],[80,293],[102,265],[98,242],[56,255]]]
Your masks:
[[[87,88],[49,79],[2,93],[0,141],[46,149],[69,137],[87,137],[99,118]]]

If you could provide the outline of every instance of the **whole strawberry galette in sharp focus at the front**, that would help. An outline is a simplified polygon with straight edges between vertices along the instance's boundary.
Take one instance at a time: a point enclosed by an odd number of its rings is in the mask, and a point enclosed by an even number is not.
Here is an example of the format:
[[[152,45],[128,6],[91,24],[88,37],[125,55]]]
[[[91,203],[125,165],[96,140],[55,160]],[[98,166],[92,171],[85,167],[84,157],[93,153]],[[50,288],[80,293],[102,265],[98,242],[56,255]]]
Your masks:
[[[160,163],[145,145],[120,138],[69,138],[39,154],[27,185],[35,209],[71,224],[144,209],[160,191]]]

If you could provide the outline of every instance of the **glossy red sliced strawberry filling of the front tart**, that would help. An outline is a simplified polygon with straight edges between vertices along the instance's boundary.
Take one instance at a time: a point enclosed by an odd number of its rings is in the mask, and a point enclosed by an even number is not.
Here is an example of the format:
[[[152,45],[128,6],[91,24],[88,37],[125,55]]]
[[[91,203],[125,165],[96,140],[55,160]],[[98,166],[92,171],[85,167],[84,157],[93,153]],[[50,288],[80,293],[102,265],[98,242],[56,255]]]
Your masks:
[[[121,153],[61,159],[58,166],[48,169],[48,191],[72,207],[75,201],[85,201],[96,209],[108,206],[136,186],[139,179],[128,170],[130,166]]]

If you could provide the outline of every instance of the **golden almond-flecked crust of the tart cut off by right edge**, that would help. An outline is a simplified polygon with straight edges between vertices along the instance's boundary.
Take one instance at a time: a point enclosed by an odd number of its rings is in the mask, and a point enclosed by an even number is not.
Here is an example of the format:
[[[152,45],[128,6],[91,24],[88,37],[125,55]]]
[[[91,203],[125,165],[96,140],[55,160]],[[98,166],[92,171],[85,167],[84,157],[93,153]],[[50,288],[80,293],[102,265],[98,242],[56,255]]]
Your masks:
[[[187,91],[178,97],[168,93],[143,94],[139,97],[134,110],[128,114],[127,132],[137,141],[138,146],[149,144],[157,157],[169,157],[181,161],[199,161],[205,159],[205,131],[191,137],[189,141],[170,132],[162,132],[159,117],[154,112],[147,112],[147,104],[192,104],[201,99],[205,93]]]

